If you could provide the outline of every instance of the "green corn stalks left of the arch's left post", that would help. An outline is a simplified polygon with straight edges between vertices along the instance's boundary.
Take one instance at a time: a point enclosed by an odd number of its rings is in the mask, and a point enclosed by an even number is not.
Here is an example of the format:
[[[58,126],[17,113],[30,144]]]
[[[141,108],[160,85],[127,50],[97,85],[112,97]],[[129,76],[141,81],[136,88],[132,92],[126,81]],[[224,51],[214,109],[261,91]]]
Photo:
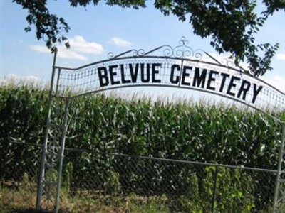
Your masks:
[[[13,176],[19,167],[39,166],[38,159],[41,159],[41,154],[37,151],[37,146],[24,146],[21,143],[19,146],[14,146],[9,142],[42,143],[47,95],[47,91],[34,87],[0,87],[1,178]],[[26,158],[27,155],[38,156]],[[28,175],[35,175],[34,171],[26,170],[26,172]],[[21,180],[21,176],[18,178]]]

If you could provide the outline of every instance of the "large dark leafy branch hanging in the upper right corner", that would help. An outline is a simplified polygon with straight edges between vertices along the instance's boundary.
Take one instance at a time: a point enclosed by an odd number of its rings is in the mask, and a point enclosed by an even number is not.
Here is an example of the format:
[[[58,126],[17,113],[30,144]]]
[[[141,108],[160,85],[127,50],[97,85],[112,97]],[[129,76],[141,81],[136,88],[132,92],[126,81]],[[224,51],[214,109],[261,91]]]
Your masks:
[[[271,60],[279,43],[275,45],[256,44],[255,35],[274,11],[285,9],[284,1],[264,0],[267,10],[259,17],[254,11],[257,1],[183,1],[183,0],[157,0],[155,7],[165,15],[170,13],[180,20],[189,21],[194,33],[202,38],[210,37],[210,44],[218,53],[229,52],[235,63],[247,59],[249,71],[258,77],[266,71],[272,70]],[[259,2],[261,4],[261,2]],[[264,51],[261,57],[260,51]]]

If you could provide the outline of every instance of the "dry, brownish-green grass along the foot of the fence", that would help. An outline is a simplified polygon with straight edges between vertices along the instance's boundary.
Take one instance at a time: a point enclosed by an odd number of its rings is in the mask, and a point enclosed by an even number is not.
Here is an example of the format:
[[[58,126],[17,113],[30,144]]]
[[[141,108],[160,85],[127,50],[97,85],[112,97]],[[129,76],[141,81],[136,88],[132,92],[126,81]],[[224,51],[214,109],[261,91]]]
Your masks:
[[[65,190],[61,193],[59,212],[170,212],[166,197],[94,197],[76,193],[68,196]],[[36,211],[36,188],[21,187],[20,189],[2,186],[0,188],[0,212],[24,213]],[[52,207],[48,207],[52,209]]]

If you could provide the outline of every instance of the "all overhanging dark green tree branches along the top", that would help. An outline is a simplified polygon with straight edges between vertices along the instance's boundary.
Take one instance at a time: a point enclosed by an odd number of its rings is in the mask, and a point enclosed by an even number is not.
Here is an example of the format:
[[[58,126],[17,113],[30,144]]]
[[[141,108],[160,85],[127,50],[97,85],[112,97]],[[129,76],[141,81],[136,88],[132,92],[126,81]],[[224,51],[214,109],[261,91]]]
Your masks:
[[[68,38],[63,35],[70,30],[64,18],[51,14],[47,8],[47,0],[13,0],[28,10],[26,20],[29,26],[25,31],[31,31],[30,26],[36,26],[36,37],[43,39],[51,51],[56,50],[57,43],[65,43],[69,48]],[[96,6],[100,0],[68,0],[73,7]],[[145,7],[147,0],[105,0],[105,3],[114,6]],[[218,53],[231,53],[231,57],[238,65],[247,61],[249,73],[258,77],[272,70],[271,60],[279,43],[256,44],[254,35],[257,35],[266,19],[274,12],[285,10],[285,0],[263,0],[266,10],[260,16],[254,12],[256,0],[154,0],[156,9],[165,16],[177,16],[181,21],[189,19],[194,33],[202,38],[210,37],[210,45]],[[263,54],[260,54],[263,53]],[[262,55],[262,56],[260,56]]]

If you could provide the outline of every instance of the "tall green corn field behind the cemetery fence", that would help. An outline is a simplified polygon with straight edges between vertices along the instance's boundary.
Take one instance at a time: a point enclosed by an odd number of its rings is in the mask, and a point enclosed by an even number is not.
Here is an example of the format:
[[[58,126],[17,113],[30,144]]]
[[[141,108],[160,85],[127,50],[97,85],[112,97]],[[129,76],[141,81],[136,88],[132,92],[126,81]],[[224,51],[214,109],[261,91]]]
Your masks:
[[[0,88],[2,187],[29,180],[36,190],[47,102],[45,89]],[[68,116],[68,193],[158,196],[170,212],[209,212],[217,187],[214,207],[221,212],[271,207],[281,126],[270,116],[226,104],[104,94],[74,99]]]

